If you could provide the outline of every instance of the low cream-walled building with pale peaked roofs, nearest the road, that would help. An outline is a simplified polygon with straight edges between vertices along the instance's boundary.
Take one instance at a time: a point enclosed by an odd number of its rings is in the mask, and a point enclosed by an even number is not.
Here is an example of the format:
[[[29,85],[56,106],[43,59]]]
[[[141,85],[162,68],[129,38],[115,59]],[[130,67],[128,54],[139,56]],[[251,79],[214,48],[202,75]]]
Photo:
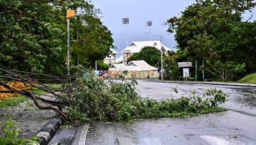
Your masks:
[[[124,71],[127,71],[127,74],[124,74]],[[118,78],[120,75],[136,79],[159,78],[157,68],[150,66],[144,60],[133,60],[127,65],[113,64],[113,66],[109,68],[109,73],[111,73],[113,78]]]

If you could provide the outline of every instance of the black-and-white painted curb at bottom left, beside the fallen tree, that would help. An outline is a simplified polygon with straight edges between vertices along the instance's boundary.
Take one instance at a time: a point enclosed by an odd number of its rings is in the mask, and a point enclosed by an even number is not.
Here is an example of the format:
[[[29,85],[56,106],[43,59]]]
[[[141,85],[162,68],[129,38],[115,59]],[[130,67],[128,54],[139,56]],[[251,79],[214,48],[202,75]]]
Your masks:
[[[60,128],[61,123],[61,119],[53,119],[49,121],[43,128],[41,128],[40,132],[36,134],[36,137],[40,137],[38,143],[41,145],[47,145]]]

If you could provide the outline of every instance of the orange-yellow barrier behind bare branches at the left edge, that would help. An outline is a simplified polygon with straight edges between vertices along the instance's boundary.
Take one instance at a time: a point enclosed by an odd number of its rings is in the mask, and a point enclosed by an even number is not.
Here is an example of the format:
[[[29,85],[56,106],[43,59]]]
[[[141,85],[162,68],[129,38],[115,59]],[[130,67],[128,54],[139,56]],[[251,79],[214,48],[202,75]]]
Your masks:
[[[15,88],[16,90],[30,90],[32,88],[29,84],[24,84],[20,81],[11,81],[8,83],[8,86],[11,86],[12,88]],[[0,90],[2,91],[10,91],[7,88],[4,88],[4,86],[0,86]],[[0,100],[3,99],[10,99],[12,97],[19,96],[18,93],[0,93]]]

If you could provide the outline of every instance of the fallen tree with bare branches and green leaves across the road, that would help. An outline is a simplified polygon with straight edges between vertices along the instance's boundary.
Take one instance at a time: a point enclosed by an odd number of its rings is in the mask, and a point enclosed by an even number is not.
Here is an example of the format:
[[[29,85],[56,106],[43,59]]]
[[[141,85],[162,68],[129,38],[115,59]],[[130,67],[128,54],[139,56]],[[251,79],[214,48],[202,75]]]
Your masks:
[[[201,94],[191,92],[189,97],[157,101],[141,98],[136,92],[135,80],[122,77],[120,81],[104,80],[96,78],[92,71],[86,71],[84,75],[83,69],[75,70],[72,76],[57,77],[0,69],[0,85],[32,99],[40,109],[56,111],[68,121],[129,121],[136,118],[195,116],[226,110],[218,107],[227,97],[221,90],[205,90]],[[49,94],[17,90],[6,84],[10,79],[29,84]],[[42,81],[61,83],[61,88],[53,88]]]

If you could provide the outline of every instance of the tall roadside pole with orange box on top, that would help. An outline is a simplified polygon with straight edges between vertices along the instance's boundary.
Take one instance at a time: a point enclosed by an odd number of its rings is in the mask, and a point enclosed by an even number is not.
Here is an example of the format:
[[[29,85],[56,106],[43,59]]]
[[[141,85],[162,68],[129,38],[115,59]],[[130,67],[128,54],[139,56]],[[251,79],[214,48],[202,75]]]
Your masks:
[[[70,18],[74,16],[74,10],[67,10],[67,76],[70,76]]]

